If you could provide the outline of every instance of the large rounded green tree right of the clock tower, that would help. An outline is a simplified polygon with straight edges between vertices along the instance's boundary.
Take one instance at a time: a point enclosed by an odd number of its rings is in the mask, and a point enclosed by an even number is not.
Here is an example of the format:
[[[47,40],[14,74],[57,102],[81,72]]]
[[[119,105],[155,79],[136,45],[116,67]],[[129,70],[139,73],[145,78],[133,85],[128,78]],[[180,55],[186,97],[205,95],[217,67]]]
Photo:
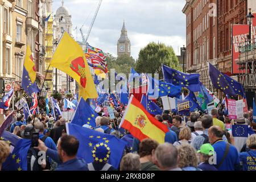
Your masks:
[[[179,59],[171,46],[151,42],[139,52],[136,71],[139,73],[159,73],[159,77],[162,77],[162,64],[181,71]]]

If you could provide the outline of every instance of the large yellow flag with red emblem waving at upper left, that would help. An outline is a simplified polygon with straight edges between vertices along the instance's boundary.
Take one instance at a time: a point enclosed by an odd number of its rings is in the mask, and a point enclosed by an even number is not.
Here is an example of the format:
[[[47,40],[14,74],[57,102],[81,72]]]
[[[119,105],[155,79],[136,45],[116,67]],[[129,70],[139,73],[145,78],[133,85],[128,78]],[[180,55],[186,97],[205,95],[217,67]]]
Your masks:
[[[56,48],[51,66],[67,73],[79,83],[79,97],[84,100],[98,97],[84,52],[67,32],[64,32]]]

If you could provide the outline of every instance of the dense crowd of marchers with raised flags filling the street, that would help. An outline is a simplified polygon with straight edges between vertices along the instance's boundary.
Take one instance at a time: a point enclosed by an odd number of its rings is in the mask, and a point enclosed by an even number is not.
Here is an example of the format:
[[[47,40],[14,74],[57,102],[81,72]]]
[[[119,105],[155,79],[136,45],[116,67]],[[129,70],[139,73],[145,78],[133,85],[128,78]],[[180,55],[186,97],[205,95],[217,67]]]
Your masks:
[[[211,64],[210,79],[224,93],[221,100],[199,74],[166,65],[162,81],[131,68],[125,86],[109,93],[97,79],[107,77],[104,52],[89,45],[83,52],[64,33],[50,65],[76,80],[79,93],[62,101],[47,93],[44,109],[32,60],[27,47],[22,89],[32,98],[30,107],[20,98],[16,110],[10,109],[14,89],[0,102],[3,171],[256,170],[255,103],[248,109],[243,86]],[[146,92],[130,88],[135,78]]]

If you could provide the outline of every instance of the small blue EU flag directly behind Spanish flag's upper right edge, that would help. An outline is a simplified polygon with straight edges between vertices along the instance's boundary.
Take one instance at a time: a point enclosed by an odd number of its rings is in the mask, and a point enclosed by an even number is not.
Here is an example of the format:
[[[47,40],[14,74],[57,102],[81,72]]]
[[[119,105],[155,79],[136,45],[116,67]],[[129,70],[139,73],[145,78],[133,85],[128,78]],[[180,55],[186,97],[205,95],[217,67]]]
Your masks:
[[[144,108],[148,111],[148,113],[152,115],[162,115],[163,111],[158,105],[155,104],[155,102],[149,100],[147,96],[143,94],[141,98],[141,104],[144,106]]]

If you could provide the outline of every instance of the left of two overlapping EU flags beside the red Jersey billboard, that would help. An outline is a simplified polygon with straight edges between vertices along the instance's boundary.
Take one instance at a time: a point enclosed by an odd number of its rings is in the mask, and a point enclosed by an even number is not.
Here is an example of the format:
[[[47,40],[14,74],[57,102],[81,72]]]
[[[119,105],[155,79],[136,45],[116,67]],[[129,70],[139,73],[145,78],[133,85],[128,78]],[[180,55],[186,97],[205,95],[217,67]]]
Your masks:
[[[230,97],[237,97],[237,94],[234,92],[229,81],[226,80],[224,74],[218,71],[218,69],[215,68],[212,64],[209,64],[209,75],[210,80],[212,80],[212,84],[216,89],[220,89]]]

